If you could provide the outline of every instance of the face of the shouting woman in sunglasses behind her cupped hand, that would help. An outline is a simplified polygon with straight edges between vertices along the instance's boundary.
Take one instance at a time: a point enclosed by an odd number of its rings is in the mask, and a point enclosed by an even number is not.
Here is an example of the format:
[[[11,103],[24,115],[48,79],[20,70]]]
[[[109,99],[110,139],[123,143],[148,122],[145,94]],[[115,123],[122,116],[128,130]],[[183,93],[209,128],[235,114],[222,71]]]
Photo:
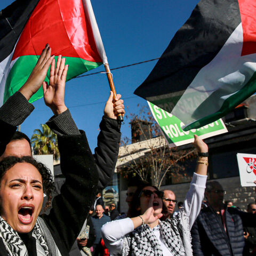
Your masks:
[[[149,195],[150,193],[148,193],[148,190],[152,192],[158,191],[151,186],[147,186],[142,189],[142,192],[140,195],[140,207],[138,209],[138,210],[141,210],[141,214],[143,214],[149,208],[149,199],[151,195]],[[153,209],[154,209],[154,215],[156,216],[157,214],[162,212],[163,201],[162,201],[162,197],[158,197],[156,193],[153,193],[153,195],[154,195]]]

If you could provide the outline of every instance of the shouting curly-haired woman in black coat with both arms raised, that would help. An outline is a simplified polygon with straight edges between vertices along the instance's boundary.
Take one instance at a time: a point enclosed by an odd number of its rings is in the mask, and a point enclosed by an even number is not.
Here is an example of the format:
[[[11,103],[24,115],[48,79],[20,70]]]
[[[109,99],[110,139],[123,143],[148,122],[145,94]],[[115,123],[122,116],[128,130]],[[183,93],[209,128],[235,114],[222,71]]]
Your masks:
[[[50,68],[49,84],[44,82]],[[79,131],[64,102],[68,65],[54,55],[47,44],[35,68],[19,92],[1,107],[3,119],[15,109],[14,119],[34,109],[28,100],[43,84],[44,101],[54,116],[47,124],[58,135],[61,172],[66,178],[60,195],[54,197],[49,215],[38,217],[44,194],[49,204],[53,187],[52,175],[46,167],[31,157],[9,156],[0,162],[0,255],[1,256],[68,256],[93,204],[99,181],[97,167],[85,132]],[[21,104],[22,102],[22,104]],[[23,113],[25,112],[25,113]],[[60,122],[65,120],[65,122]],[[59,122],[58,122],[59,121]],[[63,124],[63,125],[60,125]],[[12,127],[13,126],[13,127]],[[2,134],[9,134],[15,126],[1,122]],[[10,135],[10,134],[9,134]],[[5,140],[0,146],[6,145]],[[15,150],[13,151],[15,154]],[[16,154],[20,156],[19,154]]]

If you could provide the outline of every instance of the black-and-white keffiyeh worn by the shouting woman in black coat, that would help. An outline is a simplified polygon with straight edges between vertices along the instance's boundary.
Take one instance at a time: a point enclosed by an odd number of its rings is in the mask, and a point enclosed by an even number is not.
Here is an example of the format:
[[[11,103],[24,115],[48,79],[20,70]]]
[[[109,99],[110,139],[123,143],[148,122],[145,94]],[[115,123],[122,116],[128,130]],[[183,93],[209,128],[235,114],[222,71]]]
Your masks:
[[[42,220],[43,221],[43,220]],[[42,225],[42,221],[41,225]],[[42,227],[38,222],[35,223],[35,227],[32,236],[36,239],[36,250],[38,256],[60,256],[60,252],[54,243],[54,250],[49,250],[49,246],[46,243]],[[44,227],[45,228],[45,227]],[[49,230],[48,230],[49,231]],[[50,231],[48,232],[50,233]],[[10,256],[28,256],[27,248],[20,238],[17,231],[15,231],[1,216],[0,216],[0,237],[2,237],[7,254]],[[53,241],[53,238],[51,237]],[[54,253],[52,253],[54,251]]]

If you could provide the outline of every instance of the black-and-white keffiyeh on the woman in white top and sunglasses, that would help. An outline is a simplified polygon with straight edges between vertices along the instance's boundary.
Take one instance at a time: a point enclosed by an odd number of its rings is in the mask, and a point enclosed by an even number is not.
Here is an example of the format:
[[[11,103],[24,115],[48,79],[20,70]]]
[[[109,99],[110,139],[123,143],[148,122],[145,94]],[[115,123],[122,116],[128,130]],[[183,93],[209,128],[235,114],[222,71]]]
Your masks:
[[[193,255],[188,217],[185,211],[180,211],[175,218],[159,221],[159,231],[173,255]],[[144,225],[125,236],[122,255],[163,256],[163,252],[153,229]]]

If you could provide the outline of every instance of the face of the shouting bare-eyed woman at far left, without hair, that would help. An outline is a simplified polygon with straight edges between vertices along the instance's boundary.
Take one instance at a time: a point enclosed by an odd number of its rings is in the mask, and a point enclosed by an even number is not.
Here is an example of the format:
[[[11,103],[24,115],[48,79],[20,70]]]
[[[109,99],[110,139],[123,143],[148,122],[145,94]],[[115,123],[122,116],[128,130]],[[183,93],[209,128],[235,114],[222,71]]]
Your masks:
[[[0,183],[1,217],[18,233],[28,233],[43,205],[42,176],[35,166],[17,163]]]

